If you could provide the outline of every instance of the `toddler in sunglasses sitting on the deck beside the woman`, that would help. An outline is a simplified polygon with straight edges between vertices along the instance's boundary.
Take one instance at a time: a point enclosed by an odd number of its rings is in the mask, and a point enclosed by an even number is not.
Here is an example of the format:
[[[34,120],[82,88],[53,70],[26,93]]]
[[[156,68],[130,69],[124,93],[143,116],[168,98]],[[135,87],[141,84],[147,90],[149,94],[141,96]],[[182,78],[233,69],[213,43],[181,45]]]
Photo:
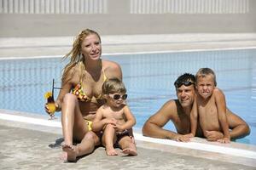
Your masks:
[[[125,93],[125,85],[118,78],[109,79],[102,85],[106,103],[96,111],[92,130],[99,132],[103,129],[102,144],[106,147],[108,156],[118,155],[113,148],[114,144],[119,144],[123,153],[137,156],[136,146],[127,131],[135,125],[136,120],[125,103]]]

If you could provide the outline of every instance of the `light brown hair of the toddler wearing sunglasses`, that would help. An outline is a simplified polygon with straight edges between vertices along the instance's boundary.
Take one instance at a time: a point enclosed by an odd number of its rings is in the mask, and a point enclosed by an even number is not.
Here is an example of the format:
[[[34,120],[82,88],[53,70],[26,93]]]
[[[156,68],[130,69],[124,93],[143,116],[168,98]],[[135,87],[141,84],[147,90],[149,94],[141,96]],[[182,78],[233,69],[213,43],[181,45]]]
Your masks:
[[[125,94],[125,84],[118,78],[110,78],[102,85],[102,94]]]

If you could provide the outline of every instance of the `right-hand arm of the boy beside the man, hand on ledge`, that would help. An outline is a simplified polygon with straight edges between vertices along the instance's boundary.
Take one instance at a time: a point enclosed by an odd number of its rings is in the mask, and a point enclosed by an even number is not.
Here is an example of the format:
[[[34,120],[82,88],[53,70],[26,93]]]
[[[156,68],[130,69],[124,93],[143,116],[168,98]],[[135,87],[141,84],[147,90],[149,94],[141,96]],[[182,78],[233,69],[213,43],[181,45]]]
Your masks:
[[[228,143],[230,142],[230,130],[229,130],[229,124],[227,122],[227,116],[226,116],[225,97],[223,92],[218,88],[214,89],[214,97],[215,97],[215,102],[218,110],[218,120],[224,132],[224,139],[221,139],[219,141],[222,143]]]

